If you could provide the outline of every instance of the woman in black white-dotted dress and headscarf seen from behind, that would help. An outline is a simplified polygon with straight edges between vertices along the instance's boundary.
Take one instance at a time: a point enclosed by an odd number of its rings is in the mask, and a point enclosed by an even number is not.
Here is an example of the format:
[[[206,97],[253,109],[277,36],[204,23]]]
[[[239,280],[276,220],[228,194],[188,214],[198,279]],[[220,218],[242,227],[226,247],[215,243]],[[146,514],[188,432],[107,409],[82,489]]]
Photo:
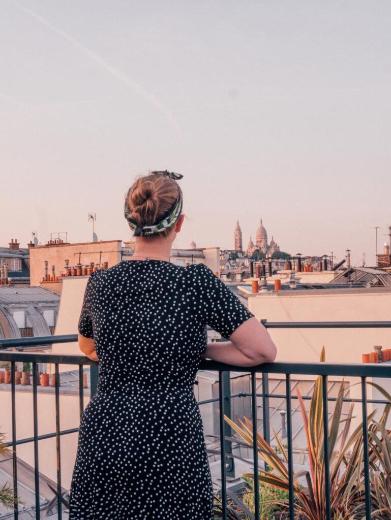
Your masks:
[[[100,371],[80,424],[70,520],[212,520],[199,363],[275,359],[266,329],[208,267],[170,263],[184,219],[181,177],[135,181],[124,210],[134,255],[86,285],[79,345]],[[207,325],[230,341],[207,343]]]

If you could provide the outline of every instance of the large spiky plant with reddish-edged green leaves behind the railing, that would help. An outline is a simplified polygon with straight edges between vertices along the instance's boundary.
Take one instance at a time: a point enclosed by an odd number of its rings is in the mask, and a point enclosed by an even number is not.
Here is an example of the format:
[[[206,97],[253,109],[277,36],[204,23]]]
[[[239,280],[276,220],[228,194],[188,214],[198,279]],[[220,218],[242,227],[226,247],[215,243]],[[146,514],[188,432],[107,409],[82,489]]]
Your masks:
[[[324,362],[324,348],[321,362]],[[304,406],[300,392],[297,390],[299,407],[304,422],[307,439],[310,470],[294,474],[293,490],[295,495],[295,512],[307,520],[324,520],[326,517],[326,499],[324,486],[324,446],[323,446],[323,396],[322,378],[318,377],[310,400],[309,411]],[[339,518],[350,518],[362,508],[364,499],[363,489],[363,439],[362,423],[349,435],[352,412],[351,404],[348,417],[342,419],[344,399],[344,381],[340,385],[335,402],[333,418],[329,426],[329,467],[330,467],[330,496],[332,514]],[[372,428],[376,410],[368,415],[368,424]],[[384,424],[386,414],[383,414],[381,423]],[[224,415],[233,430],[249,445],[253,446],[253,424],[244,417],[244,422],[238,419],[238,424]],[[342,426],[342,432],[340,428]],[[340,435],[339,435],[340,434]],[[288,455],[280,437],[274,432],[278,447],[281,451],[280,459],[274,449],[257,432],[257,446],[259,456],[268,464],[270,471],[260,470],[258,478],[261,483],[288,491]],[[304,475],[307,490],[300,487],[298,477]],[[244,476],[254,478],[254,474],[245,473]]]

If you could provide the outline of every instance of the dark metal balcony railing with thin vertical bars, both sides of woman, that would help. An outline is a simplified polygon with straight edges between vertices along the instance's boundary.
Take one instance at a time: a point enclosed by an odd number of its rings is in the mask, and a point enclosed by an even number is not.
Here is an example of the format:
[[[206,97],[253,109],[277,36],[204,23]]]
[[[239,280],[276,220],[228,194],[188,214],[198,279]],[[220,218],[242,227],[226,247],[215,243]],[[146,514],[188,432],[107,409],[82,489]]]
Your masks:
[[[270,329],[276,328],[391,328],[390,321],[377,322],[287,322],[287,323],[268,323],[263,321],[264,325]],[[34,480],[35,480],[35,517],[40,520],[40,483],[39,483],[39,441],[47,438],[56,438],[57,452],[57,506],[58,519],[62,520],[62,487],[61,487],[61,449],[60,439],[62,435],[78,432],[79,428],[71,428],[69,430],[60,430],[60,386],[59,386],[59,365],[77,365],[79,367],[79,413],[80,418],[84,410],[84,391],[83,391],[83,366],[90,366],[91,370],[91,397],[95,394],[98,382],[98,363],[90,360],[85,356],[74,355],[52,355],[28,352],[11,352],[7,350],[9,347],[30,347],[34,345],[48,345],[55,343],[76,342],[77,334],[47,336],[47,337],[31,337],[26,339],[11,339],[0,341],[0,361],[9,361],[11,363],[11,414],[12,414],[12,440],[8,446],[12,448],[12,469],[14,496],[18,498],[18,475],[17,475],[17,447],[26,443],[33,443],[34,446]],[[16,385],[15,371],[16,362],[31,362],[33,373],[32,400],[33,400],[33,437],[18,439],[16,431]],[[37,363],[53,363],[55,366],[55,410],[56,410],[56,431],[53,433],[39,435],[38,434],[38,408],[37,408]],[[355,402],[361,403],[362,409],[362,438],[363,438],[363,464],[364,464],[364,488],[365,488],[365,517],[371,517],[371,493],[370,493],[370,465],[369,465],[369,444],[368,444],[368,412],[367,404],[388,404],[388,401],[382,399],[367,398],[367,378],[388,378],[391,379],[391,364],[340,364],[340,363],[298,363],[298,362],[275,362],[265,363],[255,367],[234,367],[225,363],[216,361],[203,360],[199,367],[200,370],[213,370],[218,372],[219,381],[219,397],[198,401],[198,405],[203,405],[213,401],[219,403],[219,420],[220,420],[220,458],[221,458],[221,501],[222,501],[222,518],[228,518],[226,509],[227,489],[226,476],[230,471],[230,462],[232,461],[231,440],[227,437],[231,436],[231,428],[229,424],[224,422],[224,414],[230,417],[231,399],[247,395],[251,398],[251,412],[253,419],[253,432],[258,431],[257,425],[257,397],[262,400],[262,418],[263,418],[263,438],[270,442],[270,421],[269,421],[269,399],[281,397],[286,399],[286,426],[287,426],[287,471],[289,476],[289,518],[295,518],[295,501],[294,501],[294,461],[293,461],[293,432],[292,432],[292,400],[297,396],[292,395],[291,376],[293,374],[306,376],[321,376],[322,378],[322,394],[323,394],[323,410],[322,422],[324,434],[324,485],[325,485],[325,518],[332,519],[331,513],[331,492],[330,492],[330,467],[329,467],[329,413],[327,410],[327,402],[334,400],[327,394],[327,378],[329,376],[336,377],[356,377],[361,383],[361,399],[355,399]],[[250,374],[251,392],[241,392],[232,394],[230,391],[230,372],[241,371]],[[262,374],[262,391],[257,392],[256,374]],[[283,376],[285,380],[285,394],[273,394],[269,392],[269,374],[278,374]],[[305,399],[306,397],[304,397]],[[308,397],[307,397],[308,398]],[[352,399],[344,399],[344,401],[352,401]],[[258,475],[258,446],[257,437],[253,436],[253,464],[254,475]],[[228,455],[228,457],[227,457]],[[255,514],[254,519],[259,520],[259,481],[254,479],[255,492]],[[14,506],[14,519],[19,518],[18,503]]]

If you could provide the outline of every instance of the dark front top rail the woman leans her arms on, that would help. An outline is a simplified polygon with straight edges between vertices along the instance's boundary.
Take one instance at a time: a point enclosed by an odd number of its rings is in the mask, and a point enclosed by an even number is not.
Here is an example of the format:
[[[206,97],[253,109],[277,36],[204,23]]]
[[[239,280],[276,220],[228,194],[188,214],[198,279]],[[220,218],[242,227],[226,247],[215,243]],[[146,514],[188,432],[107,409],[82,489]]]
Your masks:
[[[62,365],[98,365],[86,356],[68,354],[41,354],[28,352],[0,352],[0,361],[30,361],[37,363],[61,363]],[[297,374],[297,375],[335,375],[350,377],[377,377],[391,378],[391,363],[306,363],[276,361],[263,363],[254,367],[239,367],[204,359],[199,370],[218,370],[222,372],[264,372],[268,374]]]

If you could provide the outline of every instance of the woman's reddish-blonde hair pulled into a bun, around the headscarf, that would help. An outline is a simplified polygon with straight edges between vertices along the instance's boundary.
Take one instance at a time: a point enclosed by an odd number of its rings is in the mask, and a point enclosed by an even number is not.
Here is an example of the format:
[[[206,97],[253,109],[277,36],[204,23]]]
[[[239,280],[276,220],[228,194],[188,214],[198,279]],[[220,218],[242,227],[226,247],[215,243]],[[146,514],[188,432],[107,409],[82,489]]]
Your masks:
[[[153,226],[174,207],[180,193],[178,184],[170,177],[155,173],[140,176],[125,194],[125,201],[130,210],[129,216],[138,226]],[[172,226],[178,221],[178,218]],[[144,237],[148,240],[154,240],[159,236],[167,237],[172,226],[153,235],[144,235]]]

